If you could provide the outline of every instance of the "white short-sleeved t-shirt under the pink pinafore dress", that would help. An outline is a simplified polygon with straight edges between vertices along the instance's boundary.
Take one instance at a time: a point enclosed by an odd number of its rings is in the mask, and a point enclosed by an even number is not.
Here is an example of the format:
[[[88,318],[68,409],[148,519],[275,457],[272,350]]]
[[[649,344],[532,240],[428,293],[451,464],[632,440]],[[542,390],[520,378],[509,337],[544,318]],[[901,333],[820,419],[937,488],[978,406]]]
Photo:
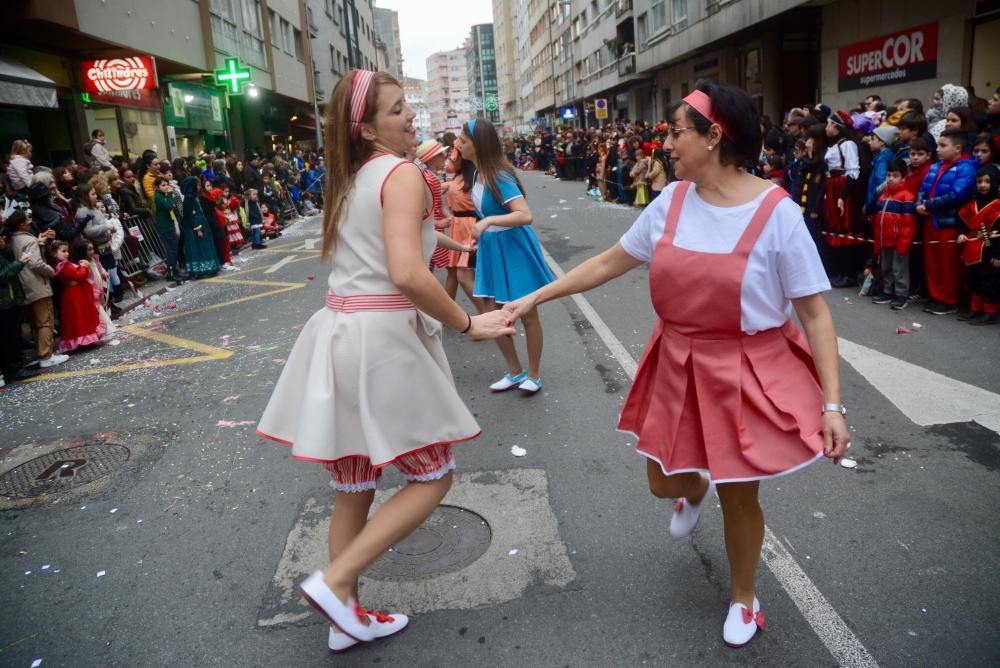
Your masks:
[[[671,183],[664,188],[622,235],[622,247],[635,259],[649,262],[653,258],[676,187],[677,183]],[[684,198],[674,244],[703,253],[731,253],[768,192],[770,189],[740,206],[717,207],[702,200],[696,187],[691,186]],[[802,210],[786,197],[775,207],[750,251],[743,275],[741,327],[747,334],[780,327],[791,317],[789,300],[829,289],[830,281],[806,229]]]

